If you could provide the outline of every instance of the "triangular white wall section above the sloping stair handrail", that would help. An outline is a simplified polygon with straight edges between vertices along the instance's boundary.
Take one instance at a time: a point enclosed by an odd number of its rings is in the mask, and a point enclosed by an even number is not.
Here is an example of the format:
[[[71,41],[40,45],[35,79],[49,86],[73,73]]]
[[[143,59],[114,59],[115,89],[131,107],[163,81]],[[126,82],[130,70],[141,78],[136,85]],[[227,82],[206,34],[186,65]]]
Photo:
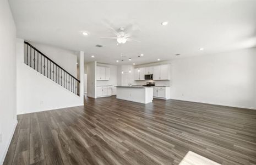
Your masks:
[[[78,77],[78,69],[77,69],[77,52],[64,50],[62,48],[57,48],[49,45],[44,45],[41,43],[28,41],[32,46],[37,48],[37,50],[41,51],[48,58],[52,59],[55,63],[60,65],[63,69],[67,70],[70,74],[72,74],[75,78]]]

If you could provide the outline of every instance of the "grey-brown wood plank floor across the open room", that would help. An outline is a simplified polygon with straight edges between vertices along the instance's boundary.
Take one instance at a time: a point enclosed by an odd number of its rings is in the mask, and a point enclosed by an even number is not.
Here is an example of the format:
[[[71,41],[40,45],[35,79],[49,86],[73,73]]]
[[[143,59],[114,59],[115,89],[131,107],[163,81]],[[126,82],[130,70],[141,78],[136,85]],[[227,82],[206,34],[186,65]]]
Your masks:
[[[18,116],[4,164],[179,164],[193,151],[256,164],[256,111],[176,100],[85,106]]]

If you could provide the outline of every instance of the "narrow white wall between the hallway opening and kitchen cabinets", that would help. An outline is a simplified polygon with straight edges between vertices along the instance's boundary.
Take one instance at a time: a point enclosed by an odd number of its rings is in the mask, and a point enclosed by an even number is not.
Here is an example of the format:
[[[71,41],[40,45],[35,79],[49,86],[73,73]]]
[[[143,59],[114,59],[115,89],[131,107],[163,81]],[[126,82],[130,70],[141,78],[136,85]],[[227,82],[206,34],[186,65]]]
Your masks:
[[[97,62],[90,62],[87,65],[87,96],[96,98],[96,65]]]

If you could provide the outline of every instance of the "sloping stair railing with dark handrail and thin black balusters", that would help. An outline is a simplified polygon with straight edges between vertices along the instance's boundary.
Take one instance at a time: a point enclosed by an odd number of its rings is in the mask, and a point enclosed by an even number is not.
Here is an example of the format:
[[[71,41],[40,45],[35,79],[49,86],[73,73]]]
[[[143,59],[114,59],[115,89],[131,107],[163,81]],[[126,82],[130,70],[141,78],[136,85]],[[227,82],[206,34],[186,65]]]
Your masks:
[[[80,80],[26,41],[24,41],[24,63],[79,96]]]

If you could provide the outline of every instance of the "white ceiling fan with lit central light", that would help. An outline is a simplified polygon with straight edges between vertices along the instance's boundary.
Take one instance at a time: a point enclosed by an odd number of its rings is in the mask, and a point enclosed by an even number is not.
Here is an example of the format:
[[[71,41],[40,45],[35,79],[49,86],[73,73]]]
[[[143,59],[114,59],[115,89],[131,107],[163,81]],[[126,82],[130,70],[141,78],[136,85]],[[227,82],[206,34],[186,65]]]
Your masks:
[[[138,40],[134,40],[132,38],[130,38],[131,33],[130,31],[135,31],[137,29],[134,30],[134,25],[130,24],[129,26],[127,26],[126,28],[124,27],[119,27],[118,30],[115,30],[113,27],[111,27],[110,25],[108,25],[109,29],[112,30],[112,32],[116,35],[115,37],[101,37],[101,39],[115,39],[117,41],[117,43],[119,44],[124,44],[127,41],[136,41],[136,42],[140,42]]]

